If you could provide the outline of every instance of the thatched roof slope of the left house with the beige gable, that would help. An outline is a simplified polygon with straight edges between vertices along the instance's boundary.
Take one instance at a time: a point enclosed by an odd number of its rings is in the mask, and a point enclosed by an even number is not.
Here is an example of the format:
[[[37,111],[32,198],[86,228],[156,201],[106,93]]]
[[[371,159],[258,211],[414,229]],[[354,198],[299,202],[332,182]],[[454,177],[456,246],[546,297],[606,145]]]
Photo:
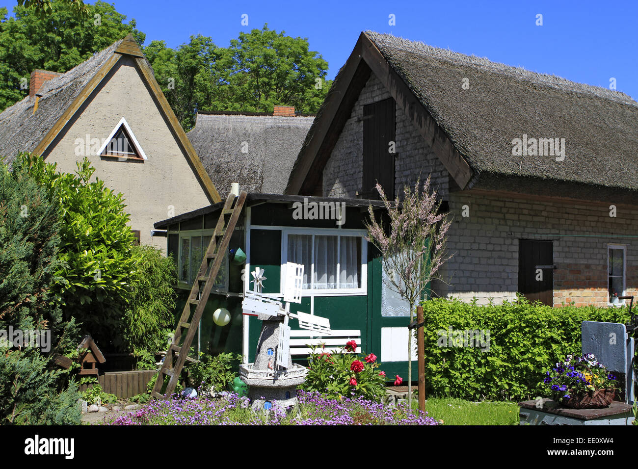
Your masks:
[[[35,114],[35,97],[27,96],[6,108],[0,114],[0,156],[12,161],[20,151],[33,151],[121,42],[115,42],[63,75],[45,82],[38,92],[41,98]]]

